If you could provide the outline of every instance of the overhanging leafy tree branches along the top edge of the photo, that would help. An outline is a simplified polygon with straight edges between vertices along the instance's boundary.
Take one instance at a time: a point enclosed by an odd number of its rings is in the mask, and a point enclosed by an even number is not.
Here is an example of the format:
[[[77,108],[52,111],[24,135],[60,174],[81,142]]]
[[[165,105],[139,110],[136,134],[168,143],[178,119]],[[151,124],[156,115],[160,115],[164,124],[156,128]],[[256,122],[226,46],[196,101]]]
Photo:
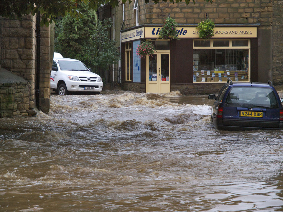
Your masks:
[[[122,3],[129,3],[132,0],[122,0]],[[167,2],[167,0],[152,0],[155,4],[159,2]],[[182,0],[169,0],[173,3],[181,2]],[[195,3],[195,0],[192,0]],[[205,0],[206,2],[211,2],[213,0]],[[149,0],[145,0],[145,3],[148,3]],[[187,4],[190,3],[190,0],[185,0]],[[96,10],[99,6],[103,4],[110,3],[111,6],[119,6],[119,0],[5,0],[1,1],[0,4],[0,15],[3,17],[19,19],[23,15],[27,14],[36,14],[37,11],[40,11],[42,15],[41,25],[48,26],[52,21],[56,21],[58,17],[64,17],[67,14],[70,14],[72,17],[79,17],[82,14],[78,9],[78,5],[84,3],[88,5],[88,9]]]

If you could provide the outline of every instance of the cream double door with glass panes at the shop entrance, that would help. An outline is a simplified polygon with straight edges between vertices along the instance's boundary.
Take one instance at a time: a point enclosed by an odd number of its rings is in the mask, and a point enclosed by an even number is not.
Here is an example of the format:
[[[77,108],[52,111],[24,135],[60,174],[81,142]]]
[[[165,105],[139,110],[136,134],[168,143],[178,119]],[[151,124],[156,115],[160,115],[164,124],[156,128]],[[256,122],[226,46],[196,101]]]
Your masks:
[[[170,92],[170,52],[157,52],[147,57],[146,92]]]

